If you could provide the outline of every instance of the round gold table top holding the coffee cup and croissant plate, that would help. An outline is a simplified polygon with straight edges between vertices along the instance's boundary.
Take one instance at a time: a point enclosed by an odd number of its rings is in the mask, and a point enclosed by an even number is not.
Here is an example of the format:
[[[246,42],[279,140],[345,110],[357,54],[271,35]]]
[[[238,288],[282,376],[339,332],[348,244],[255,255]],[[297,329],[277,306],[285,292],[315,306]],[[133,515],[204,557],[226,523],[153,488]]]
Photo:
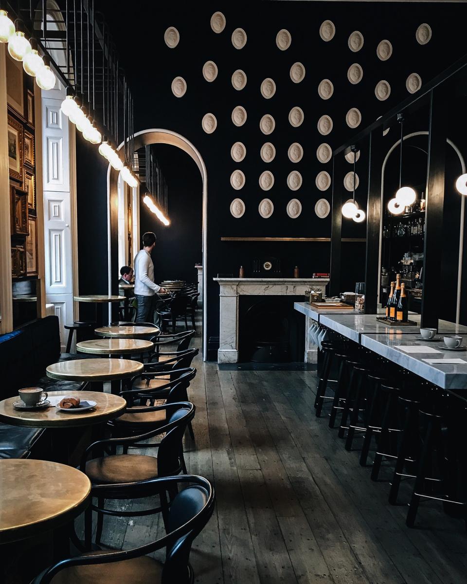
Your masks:
[[[88,359],[92,361],[92,359]],[[118,359],[113,359],[118,361]],[[0,401],[0,422],[12,426],[34,428],[63,428],[92,426],[118,418],[126,408],[127,402],[120,395],[104,394],[102,391],[49,391],[49,397],[63,395],[79,399],[93,399],[97,402],[94,409],[87,412],[61,412],[55,406],[36,410],[15,409],[13,402],[18,396]],[[1,462],[1,461],[0,461]],[[0,498],[1,500],[1,498]]]

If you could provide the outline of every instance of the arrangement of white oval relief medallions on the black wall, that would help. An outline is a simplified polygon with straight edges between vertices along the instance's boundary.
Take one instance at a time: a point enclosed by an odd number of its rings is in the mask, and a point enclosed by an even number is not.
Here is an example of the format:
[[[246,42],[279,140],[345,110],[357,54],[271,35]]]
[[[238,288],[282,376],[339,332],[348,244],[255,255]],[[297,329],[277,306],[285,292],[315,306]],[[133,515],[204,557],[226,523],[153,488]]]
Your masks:
[[[211,17],[211,29],[218,34],[228,34],[226,32],[226,19],[225,16],[221,12],[215,12]],[[322,39],[323,43],[329,43],[333,40],[334,34],[336,34],[336,27],[334,26],[331,20],[324,20],[319,27],[319,31],[316,31],[316,34],[319,33],[320,39]],[[427,23],[422,23],[420,26],[414,30],[414,36],[416,37],[417,43],[419,45],[427,44],[431,39],[431,27]],[[175,48],[177,44],[179,44],[180,35],[178,30],[174,26],[170,26],[165,31],[165,43],[169,48]],[[238,49],[239,51],[245,47],[247,43],[247,33],[242,28],[236,28],[233,30],[231,34],[231,41],[233,47]],[[358,60],[358,52],[364,45],[364,36],[358,30],[354,30],[348,34],[348,51],[355,54],[356,61]],[[269,47],[270,50],[278,50],[278,51],[287,51],[288,48],[291,46],[292,43],[292,36],[290,32],[286,29],[281,29],[277,32],[276,36],[276,47]],[[391,58],[392,55],[392,44],[389,40],[382,39],[377,46],[375,47],[377,57],[379,61],[387,61]],[[202,71],[203,77],[208,84],[215,82],[215,79],[218,75],[218,65],[214,61],[207,61],[203,66]],[[201,75],[201,71],[200,71]],[[300,84],[303,79],[305,78],[306,71],[305,66],[302,62],[291,62],[290,63],[290,83],[292,84]],[[357,85],[361,82],[364,75],[363,67],[358,62],[354,62],[353,64],[348,67],[347,71],[347,79],[348,82],[352,85]],[[330,77],[332,77],[330,75]],[[241,93],[242,90],[245,88],[248,79],[245,71],[242,69],[236,69],[232,73],[231,77],[232,81],[232,91]],[[406,89],[409,93],[415,93],[419,91],[421,87],[421,78],[420,75],[416,72],[410,74],[406,79]],[[318,91],[318,95],[322,100],[322,111],[318,112],[318,116],[316,116],[316,124],[318,127],[319,134],[323,137],[323,141],[321,144],[318,145],[315,154],[313,156],[316,157],[316,160],[320,163],[320,165],[326,165],[332,159],[332,147],[329,144],[329,135],[332,133],[333,130],[333,120],[326,113],[326,101],[331,98],[334,92],[334,86],[331,79],[323,78],[319,81],[318,86],[316,88]],[[183,77],[175,77],[172,81],[172,93],[176,98],[183,98],[187,91],[187,84]],[[241,192],[243,187],[245,186],[245,174],[242,172],[241,163],[242,161],[248,160],[248,157],[256,157],[260,156],[262,161],[266,165],[270,165],[271,162],[274,161],[276,157],[277,148],[286,148],[288,154],[288,160],[291,164],[291,172],[287,176],[287,188],[290,190],[290,200],[286,204],[285,211],[287,212],[288,217],[291,219],[295,219],[299,217],[302,212],[302,204],[300,201],[300,189],[302,189],[304,180],[302,179],[301,173],[293,169],[293,166],[300,162],[304,157],[304,147],[299,142],[293,141],[293,137],[291,136],[291,143],[290,145],[287,144],[274,144],[274,127],[276,126],[276,120],[274,117],[267,113],[267,103],[270,99],[274,98],[274,94],[276,93],[276,82],[272,78],[266,78],[261,83],[258,91],[262,95],[264,99],[264,114],[259,119],[259,123],[257,126],[257,131],[264,135],[264,143],[260,148],[260,152],[247,152],[245,144],[242,141],[236,141],[232,144],[230,155],[236,163],[238,163],[239,168],[236,168],[231,176],[230,176],[230,184],[232,189],[232,197],[230,203],[230,212],[233,217],[241,218],[245,213],[246,203],[245,200],[241,197]],[[380,102],[384,102],[388,99],[391,93],[391,85],[385,79],[380,79],[377,84],[374,86],[374,99],[379,100]],[[288,122],[291,128],[291,135],[292,135],[292,128],[297,128],[301,126],[304,121],[306,112],[306,102],[304,103],[297,103],[294,107],[290,109],[288,112]],[[316,115],[316,113],[315,113]],[[246,119],[248,116],[248,111],[245,107],[238,105],[233,108],[231,114],[231,120],[228,120],[228,123],[232,123],[237,127],[243,126],[245,124]],[[345,116],[345,121],[351,130],[355,130],[360,123],[361,123],[361,112],[358,107],[351,107]],[[213,134],[217,128],[218,120],[216,119],[213,113],[207,112],[204,114],[201,121],[201,126],[205,133]],[[227,123],[227,120],[222,120],[222,123]],[[386,130],[388,131],[388,130]],[[333,146],[336,147],[338,144],[334,144]],[[353,153],[347,154],[346,159],[347,162],[353,164]],[[360,156],[360,152],[357,152],[357,158]],[[309,159],[309,158],[308,158]],[[272,166],[272,165],[271,165]],[[274,173],[266,169],[258,176],[259,186],[264,191],[264,194],[267,193],[274,185]],[[355,189],[358,188],[359,179],[358,174],[355,175]],[[322,198],[320,198],[315,204],[315,213],[319,218],[325,218],[330,212],[330,185],[331,185],[331,177],[329,172],[325,170],[321,170],[316,174],[315,179],[316,188],[319,192],[322,193]],[[310,185],[306,185],[309,187]],[[354,173],[353,171],[349,171],[346,176],[344,177],[344,188],[349,192],[353,192],[354,190]],[[239,196],[235,197],[235,194]],[[349,195],[350,196],[350,195]],[[261,217],[269,218],[274,212],[274,201],[267,198],[266,196],[262,201],[259,203],[258,212]]]

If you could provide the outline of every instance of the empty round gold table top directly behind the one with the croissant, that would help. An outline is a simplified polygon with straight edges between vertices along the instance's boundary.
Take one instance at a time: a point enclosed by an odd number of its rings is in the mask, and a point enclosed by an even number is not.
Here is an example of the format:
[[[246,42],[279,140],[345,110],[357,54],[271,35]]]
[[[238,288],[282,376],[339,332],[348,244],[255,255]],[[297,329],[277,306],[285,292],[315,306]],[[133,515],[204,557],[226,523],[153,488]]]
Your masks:
[[[53,363],[46,369],[52,379],[113,381],[142,373],[142,363],[130,359],[75,359]]]

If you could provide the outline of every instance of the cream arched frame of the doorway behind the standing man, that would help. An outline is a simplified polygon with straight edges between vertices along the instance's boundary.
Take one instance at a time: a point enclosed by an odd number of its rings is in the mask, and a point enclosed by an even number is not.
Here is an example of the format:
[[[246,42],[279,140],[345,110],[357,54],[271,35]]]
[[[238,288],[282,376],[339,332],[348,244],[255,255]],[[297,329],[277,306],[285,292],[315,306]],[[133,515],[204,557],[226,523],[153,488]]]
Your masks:
[[[207,172],[203,158],[198,150],[187,138],[177,134],[171,130],[164,130],[162,128],[151,128],[149,130],[142,130],[134,135],[134,150],[149,144],[170,144],[181,148],[196,163],[203,181],[203,290],[207,289]],[[123,142],[119,145],[119,150],[123,148]],[[111,234],[118,232],[118,180],[119,173],[110,165],[107,171],[107,193],[108,193],[108,223],[109,223],[109,293],[111,293],[111,286],[113,281],[117,281],[116,253],[114,245],[111,242]],[[205,294],[203,294],[205,298]],[[207,303],[203,300],[203,360],[207,358]]]

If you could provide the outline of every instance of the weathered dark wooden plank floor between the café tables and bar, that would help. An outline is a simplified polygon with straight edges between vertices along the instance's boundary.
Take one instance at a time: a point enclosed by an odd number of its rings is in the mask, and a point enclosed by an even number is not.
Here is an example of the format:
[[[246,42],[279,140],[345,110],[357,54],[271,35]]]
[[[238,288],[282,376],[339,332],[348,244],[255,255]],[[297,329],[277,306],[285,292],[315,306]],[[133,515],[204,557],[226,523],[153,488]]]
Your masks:
[[[370,467],[358,464],[361,440],[347,452],[326,408],[315,417],[313,371],[219,371],[200,356],[195,365],[196,440],[186,441],[186,461],[217,493],[191,554],[196,582],[467,583],[463,521],[421,503],[417,529],[407,528],[410,484],[399,506],[388,505],[391,466],[370,481]],[[129,548],[160,529],[152,517],[106,517],[103,543]]]

